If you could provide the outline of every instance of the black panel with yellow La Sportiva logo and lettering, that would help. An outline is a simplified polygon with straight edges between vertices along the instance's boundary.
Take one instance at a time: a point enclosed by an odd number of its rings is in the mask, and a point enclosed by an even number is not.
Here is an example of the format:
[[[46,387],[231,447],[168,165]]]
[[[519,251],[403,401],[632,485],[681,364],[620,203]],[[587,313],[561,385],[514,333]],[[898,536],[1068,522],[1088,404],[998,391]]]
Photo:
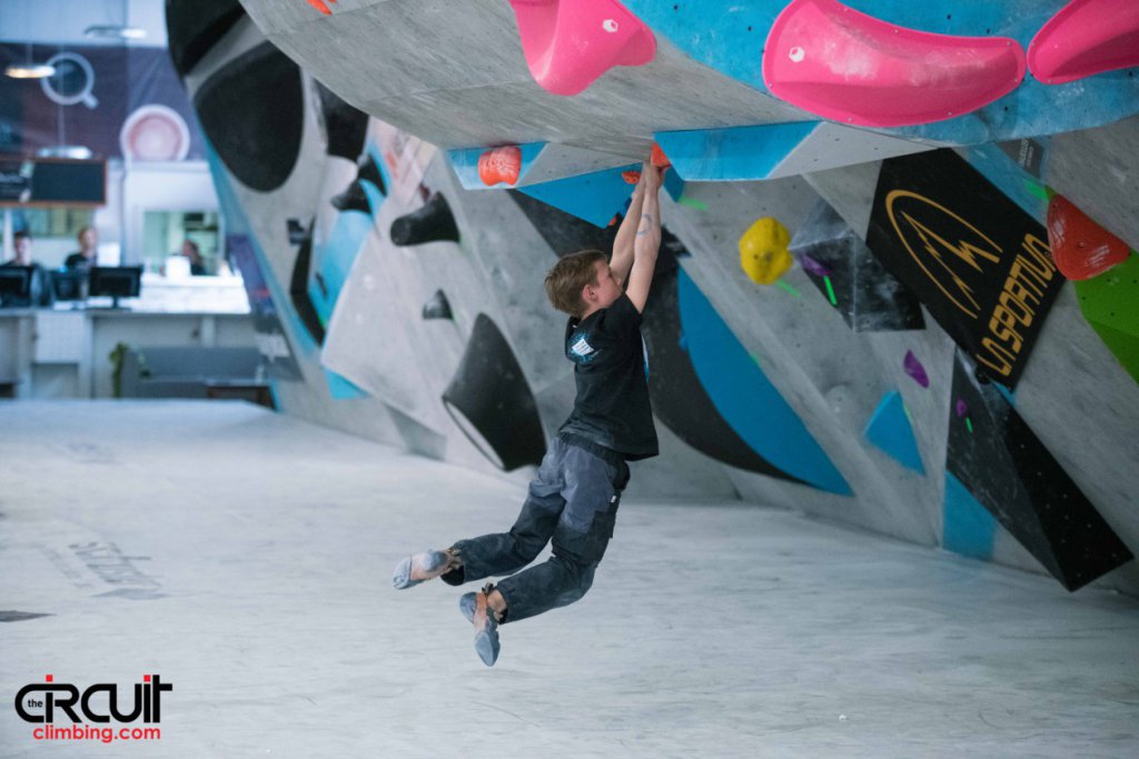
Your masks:
[[[1016,385],[1064,283],[1040,223],[934,150],[883,162],[867,244],[982,371]]]

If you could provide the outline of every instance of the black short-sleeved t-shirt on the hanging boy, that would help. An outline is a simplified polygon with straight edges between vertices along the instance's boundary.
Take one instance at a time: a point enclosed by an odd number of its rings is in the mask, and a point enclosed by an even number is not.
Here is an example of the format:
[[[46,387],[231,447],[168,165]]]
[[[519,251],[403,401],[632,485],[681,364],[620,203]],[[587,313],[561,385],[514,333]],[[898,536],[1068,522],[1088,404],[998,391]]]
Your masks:
[[[579,322],[566,323],[566,358],[577,398],[559,432],[580,435],[630,461],[659,453],[648,399],[641,315],[629,296]]]

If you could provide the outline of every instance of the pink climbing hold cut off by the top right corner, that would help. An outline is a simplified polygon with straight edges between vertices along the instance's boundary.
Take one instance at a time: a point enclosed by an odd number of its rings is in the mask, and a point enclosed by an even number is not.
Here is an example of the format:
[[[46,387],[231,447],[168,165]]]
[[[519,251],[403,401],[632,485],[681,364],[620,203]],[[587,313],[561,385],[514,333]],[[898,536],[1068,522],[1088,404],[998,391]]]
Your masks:
[[[1139,2],[1072,0],[1029,44],[1029,68],[1046,84],[1064,84],[1139,66]]]

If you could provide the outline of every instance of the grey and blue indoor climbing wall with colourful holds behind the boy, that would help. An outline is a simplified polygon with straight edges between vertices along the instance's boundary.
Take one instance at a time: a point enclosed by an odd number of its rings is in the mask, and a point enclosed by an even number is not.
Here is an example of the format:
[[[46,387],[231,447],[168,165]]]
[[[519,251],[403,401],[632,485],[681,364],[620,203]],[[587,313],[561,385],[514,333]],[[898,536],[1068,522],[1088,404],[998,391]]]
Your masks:
[[[1139,591],[1133,3],[190,5],[286,411],[527,477],[573,399],[542,278],[652,150],[636,490]]]

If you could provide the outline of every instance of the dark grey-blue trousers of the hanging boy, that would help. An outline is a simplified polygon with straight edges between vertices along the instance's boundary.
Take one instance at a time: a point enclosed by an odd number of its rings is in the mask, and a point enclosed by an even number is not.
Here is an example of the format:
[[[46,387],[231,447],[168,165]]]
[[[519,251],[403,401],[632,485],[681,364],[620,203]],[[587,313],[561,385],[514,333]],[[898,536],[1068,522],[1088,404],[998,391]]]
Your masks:
[[[555,437],[510,531],[456,543],[452,547],[462,558],[462,567],[444,575],[443,581],[461,585],[511,575],[495,585],[507,604],[503,622],[533,617],[585,595],[613,537],[621,493],[629,484],[629,465],[599,453]],[[548,542],[552,542],[550,559],[518,571],[536,559]]]

